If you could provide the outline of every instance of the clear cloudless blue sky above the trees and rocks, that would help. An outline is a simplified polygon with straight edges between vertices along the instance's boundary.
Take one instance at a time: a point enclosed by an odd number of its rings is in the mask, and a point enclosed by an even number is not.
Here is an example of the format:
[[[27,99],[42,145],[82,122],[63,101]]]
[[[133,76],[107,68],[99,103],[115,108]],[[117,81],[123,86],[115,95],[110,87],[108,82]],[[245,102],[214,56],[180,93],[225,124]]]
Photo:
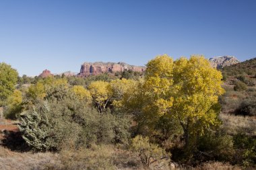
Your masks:
[[[256,56],[255,0],[1,0],[0,62],[20,75],[158,54]]]

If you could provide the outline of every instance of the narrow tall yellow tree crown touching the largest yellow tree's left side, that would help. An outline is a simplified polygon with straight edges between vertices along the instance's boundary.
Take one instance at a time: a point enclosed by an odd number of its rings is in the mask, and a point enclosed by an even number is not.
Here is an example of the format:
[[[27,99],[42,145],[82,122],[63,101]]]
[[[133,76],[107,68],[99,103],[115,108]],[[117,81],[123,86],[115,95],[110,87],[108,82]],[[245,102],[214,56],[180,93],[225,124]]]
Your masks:
[[[147,64],[145,81],[142,86],[143,98],[147,105],[144,112],[163,115],[172,107],[173,60],[168,55],[156,56]]]

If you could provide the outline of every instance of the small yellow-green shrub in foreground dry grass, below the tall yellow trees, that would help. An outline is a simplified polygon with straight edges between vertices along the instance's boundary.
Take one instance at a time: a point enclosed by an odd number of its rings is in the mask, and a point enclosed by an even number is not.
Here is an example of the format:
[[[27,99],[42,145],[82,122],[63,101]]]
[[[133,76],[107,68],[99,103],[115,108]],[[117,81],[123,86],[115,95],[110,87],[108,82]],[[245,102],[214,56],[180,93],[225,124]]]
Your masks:
[[[150,143],[148,137],[143,138],[140,135],[131,140],[131,150],[139,154],[141,163],[147,167],[149,167],[150,163],[152,163],[151,159],[156,161],[162,157],[170,156],[168,153],[166,153],[166,151],[164,151],[163,148],[160,148],[156,144]]]

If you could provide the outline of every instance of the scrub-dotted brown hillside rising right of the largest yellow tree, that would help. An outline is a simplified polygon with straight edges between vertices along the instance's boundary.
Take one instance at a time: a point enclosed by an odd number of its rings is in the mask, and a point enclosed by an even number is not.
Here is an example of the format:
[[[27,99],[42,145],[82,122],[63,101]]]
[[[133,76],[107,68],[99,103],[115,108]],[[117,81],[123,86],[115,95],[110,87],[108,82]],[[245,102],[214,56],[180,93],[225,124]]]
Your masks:
[[[226,93],[222,112],[256,116],[256,58],[221,69]]]

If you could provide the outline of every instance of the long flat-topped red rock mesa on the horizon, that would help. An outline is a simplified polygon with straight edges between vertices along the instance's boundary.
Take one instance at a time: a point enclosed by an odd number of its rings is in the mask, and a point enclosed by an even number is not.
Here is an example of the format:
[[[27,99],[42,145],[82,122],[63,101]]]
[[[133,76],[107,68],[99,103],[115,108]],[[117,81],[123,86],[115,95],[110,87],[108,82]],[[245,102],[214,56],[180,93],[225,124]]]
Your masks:
[[[81,65],[79,76],[98,75],[101,73],[116,73],[122,71],[144,72],[146,67],[127,65],[125,62],[84,62]]]

